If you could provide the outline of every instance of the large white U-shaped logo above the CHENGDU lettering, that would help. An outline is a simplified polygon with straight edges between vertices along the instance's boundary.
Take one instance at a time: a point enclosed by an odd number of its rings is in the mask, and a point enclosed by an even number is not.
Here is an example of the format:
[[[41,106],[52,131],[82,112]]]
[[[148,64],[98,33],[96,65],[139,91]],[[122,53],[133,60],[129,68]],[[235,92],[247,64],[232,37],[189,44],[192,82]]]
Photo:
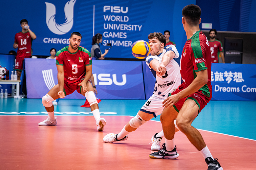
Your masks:
[[[66,21],[63,24],[57,24],[55,21],[56,8],[53,4],[46,4],[46,24],[48,28],[57,35],[63,35],[69,32],[73,26],[74,5],[75,1],[68,1],[64,7]]]

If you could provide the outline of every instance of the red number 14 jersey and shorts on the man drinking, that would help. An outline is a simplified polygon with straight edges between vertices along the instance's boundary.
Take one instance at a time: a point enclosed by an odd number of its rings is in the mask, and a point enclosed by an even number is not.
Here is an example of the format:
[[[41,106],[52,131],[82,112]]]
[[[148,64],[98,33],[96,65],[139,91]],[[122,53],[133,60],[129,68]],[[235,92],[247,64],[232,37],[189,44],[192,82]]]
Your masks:
[[[29,31],[18,32],[14,36],[14,43],[18,44],[17,56],[15,61],[15,70],[23,69],[24,58],[31,58],[32,38]]]

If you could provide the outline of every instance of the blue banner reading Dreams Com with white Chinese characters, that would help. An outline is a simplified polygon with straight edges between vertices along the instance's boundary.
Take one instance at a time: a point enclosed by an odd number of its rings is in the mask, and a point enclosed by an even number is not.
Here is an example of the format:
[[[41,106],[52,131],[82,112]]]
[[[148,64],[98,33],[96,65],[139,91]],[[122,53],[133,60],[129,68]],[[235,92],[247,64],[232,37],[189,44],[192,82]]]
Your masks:
[[[212,100],[256,101],[255,64],[212,63]]]

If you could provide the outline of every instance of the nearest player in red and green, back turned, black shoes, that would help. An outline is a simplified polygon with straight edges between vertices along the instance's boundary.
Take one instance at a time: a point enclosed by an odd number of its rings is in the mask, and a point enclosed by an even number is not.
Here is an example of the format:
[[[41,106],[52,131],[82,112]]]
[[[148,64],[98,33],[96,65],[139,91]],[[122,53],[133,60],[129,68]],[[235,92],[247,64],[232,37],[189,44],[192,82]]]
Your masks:
[[[150,154],[150,158],[164,159],[174,154],[176,146],[173,141],[175,134],[173,121],[176,119],[177,127],[204,157],[208,170],[223,170],[218,159],[212,157],[200,132],[191,126],[212,96],[211,53],[208,40],[199,28],[201,9],[194,4],[187,5],[182,9],[182,16],[182,24],[188,39],[180,62],[183,83],[163,101],[164,110],[160,120],[165,144],[158,152]],[[166,68],[161,62],[158,74],[163,75],[165,72]]]

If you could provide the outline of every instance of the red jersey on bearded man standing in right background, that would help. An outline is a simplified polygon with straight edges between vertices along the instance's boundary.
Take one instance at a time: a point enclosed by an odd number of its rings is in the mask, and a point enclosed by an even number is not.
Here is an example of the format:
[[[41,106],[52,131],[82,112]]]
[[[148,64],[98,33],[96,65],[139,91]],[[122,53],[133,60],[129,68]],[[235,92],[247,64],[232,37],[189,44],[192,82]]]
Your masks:
[[[223,51],[222,43],[219,40],[209,41],[209,46],[212,55],[212,62],[219,63],[220,52]]]

